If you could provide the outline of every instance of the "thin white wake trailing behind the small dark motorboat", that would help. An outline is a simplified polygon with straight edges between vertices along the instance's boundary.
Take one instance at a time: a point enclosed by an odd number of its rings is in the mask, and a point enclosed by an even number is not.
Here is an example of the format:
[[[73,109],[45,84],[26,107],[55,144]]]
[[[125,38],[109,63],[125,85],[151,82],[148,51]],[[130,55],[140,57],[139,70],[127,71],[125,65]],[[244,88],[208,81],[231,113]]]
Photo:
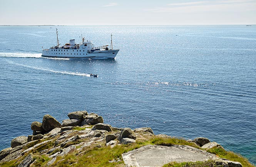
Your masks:
[[[62,75],[75,75],[75,76],[87,76],[90,77],[90,74],[85,74],[85,73],[78,73],[78,72],[71,72],[71,71],[56,71],[54,69],[49,69],[49,68],[38,68],[38,67],[33,67],[33,66],[27,66],[24,64],[19,64],[19,63],[14,63],[13,61],[7,61],[10,64],[15,64],[18,66],[23,66],[26,68],[31,68],[31,69],[36,69],[36,70],[40,70],[40,71],[48,71],[51,73],[57,73],[57,74],[62,74]]]

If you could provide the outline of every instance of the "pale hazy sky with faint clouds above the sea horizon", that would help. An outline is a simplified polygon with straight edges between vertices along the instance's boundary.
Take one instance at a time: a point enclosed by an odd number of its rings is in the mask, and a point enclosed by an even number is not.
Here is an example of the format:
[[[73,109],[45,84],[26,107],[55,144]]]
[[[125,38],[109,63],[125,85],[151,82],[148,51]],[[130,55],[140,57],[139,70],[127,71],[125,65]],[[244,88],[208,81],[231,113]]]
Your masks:
[[[256,0],[0,0],[0,25],[256,24]]]

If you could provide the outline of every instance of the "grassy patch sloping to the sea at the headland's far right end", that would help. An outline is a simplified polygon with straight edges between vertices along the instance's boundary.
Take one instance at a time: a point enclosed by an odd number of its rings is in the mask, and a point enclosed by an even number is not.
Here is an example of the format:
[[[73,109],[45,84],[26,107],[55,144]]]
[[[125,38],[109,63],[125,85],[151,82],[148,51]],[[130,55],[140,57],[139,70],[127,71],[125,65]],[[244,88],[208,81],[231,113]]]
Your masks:
[[[241,155],[235,154],[234,152],[231,152],[231,151],[226,151],[223,148],[214,147],[212,149],[207,150],[207,152],[210,152],[212,154],[216,154],[220,158],[225,158],[225,159],[228,159],[228,160],[231,160],[231,161],[240,162],[243,167],[255,167],[245,157],[242,157]]]

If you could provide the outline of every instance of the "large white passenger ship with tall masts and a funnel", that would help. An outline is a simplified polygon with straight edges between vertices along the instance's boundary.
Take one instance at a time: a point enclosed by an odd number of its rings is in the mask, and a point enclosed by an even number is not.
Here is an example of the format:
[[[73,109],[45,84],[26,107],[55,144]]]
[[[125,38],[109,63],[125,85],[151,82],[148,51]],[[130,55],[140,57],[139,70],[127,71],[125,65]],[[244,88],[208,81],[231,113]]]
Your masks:
[[[113,50],[112,34],[110,48],[105,46],[95,47],[92,41],[85,41],[82,37],[80,44],[75,43],[75,40],[69,40],[64,46],[59,46],[58,29],[57,46],[50,47],[50,49],[42,50],[42,57],[49,58],[75,58],[75,59],[114,59],[119,49]]]

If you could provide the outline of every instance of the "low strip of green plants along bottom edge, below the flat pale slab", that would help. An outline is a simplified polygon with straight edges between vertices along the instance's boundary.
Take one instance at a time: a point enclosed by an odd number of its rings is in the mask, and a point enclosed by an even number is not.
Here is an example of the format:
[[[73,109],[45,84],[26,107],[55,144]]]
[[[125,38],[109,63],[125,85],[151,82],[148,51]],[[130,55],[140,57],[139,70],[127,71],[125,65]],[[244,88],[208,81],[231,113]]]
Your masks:
[[[223,167],[223,165],[217,165],[212,160],[207,160],[204,162],[198,161],[198,162],[171,162],[169,164],[166,164],[162,167]]]

